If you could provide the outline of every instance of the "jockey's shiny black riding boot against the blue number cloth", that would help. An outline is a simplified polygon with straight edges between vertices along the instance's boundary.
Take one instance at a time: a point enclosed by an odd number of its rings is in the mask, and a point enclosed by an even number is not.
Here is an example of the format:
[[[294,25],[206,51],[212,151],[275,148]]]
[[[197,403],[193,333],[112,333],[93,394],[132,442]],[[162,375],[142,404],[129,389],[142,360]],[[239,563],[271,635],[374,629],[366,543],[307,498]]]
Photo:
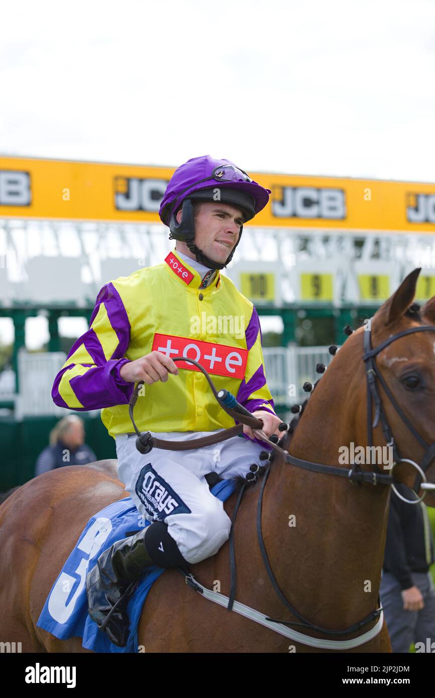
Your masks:
[[[128,587],[147,567],[183,567],[185,564],[186,560],[168,533],[168,526],[160,521],[129,538],[118,540],[101,554],[95,567],[87,574],[89,616],[98,628],[107,632],[110,642],[117,647],[125,647],[129,625],[126,609],[131,593],[126,593]],[[115,604],[115,611],[105,623]]]

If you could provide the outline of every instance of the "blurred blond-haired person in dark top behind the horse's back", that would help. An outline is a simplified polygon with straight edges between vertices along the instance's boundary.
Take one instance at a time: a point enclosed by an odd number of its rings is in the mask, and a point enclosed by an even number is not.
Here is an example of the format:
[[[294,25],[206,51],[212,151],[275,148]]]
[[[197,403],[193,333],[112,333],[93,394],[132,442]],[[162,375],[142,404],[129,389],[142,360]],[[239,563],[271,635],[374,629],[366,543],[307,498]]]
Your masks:
[[[50,433],[50,446],[40,452],[35,476],[64,466],[84,466],[96,461],[94,451],[84,443],[83,420],[68,415],[57,422]]]

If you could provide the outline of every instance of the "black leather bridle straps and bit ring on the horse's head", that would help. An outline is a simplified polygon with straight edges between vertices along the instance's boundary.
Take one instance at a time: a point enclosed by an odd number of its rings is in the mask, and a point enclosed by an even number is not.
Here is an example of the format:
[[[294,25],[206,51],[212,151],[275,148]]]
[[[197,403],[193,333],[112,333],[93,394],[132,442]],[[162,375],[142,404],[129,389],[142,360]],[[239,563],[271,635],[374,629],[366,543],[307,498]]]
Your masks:
[[[429,468],[429,465],[432,463],[434,456],[435,456],[435,441],[432,444],[426,443],[425,439],[420,436],[418,431],[415,429],[413,424],[409,421],[408,417],[404,415],[404,412],[401,410],[397,402],[395,401],[395,398],[392,396],[392,393],[390,389],[388,388],[388,385],[385,383],[385,380],[383,379],[381,373],[378,371],[378,367],[376,366],[376,361],[375,357],[383,350],[385,347],[389,346],[393,342],[395,342],[397,339],[400,339],[401,337],[406,336],[407,334],[413,334],[414,332],[435,332],[435,327],[432,325],[421,325],[420,327],[410,327],[408,329],[404,329],[401,332],[398,332],[397,334],[394,334],[392,337],[389,337],[388,339],[385,339],[385,341],[381,344],[379,344],[376,348],[371,347],[371,319],[368,320],[367,325],[364,327],[364,356],[362,357],[363,361],[367,365],[367,440],[369,442],[369,446],[373,446],[373,430],[376,428],[378,425],[379,419],[381,419],[381,424],[382,424],[382,429],[383,429],[383,435],[385,437],[385,440],[387,442],[387,445],[389,447],[392,447],[392,454],[393,454],[393,463],[391,466],[394,468],[397,466],[399,463],[410,463],[414,468],[418,471],[418,475],[415,478],[414,482],[414,487],[413,491],[415,494],[418,495],[418,490],[420,489],[420,486],[422,487],[423,494],[420,498],[417,498],[415,500],[408,500],[405,499],[401,494],[397,491],[395,488],[394,483],[392,482],[392,489],[397,494],[397,496],[401,499],[404,500],[408,504],[418,504],[420,503],[426,496],[426,491],[427,490],[432,490],[435,489],[435,486],[431,487],[431,484],[427,483],[427,478],[426,478],[426,470]],[[385,393],[388,396],[388,399],[390,400],[390,403],[392,403],[392,406],[395,408],[397,414],[401,418],[402,422],[407,426],[409,431],[415,436],[415,438],[418,440],[418,443],[422,445],[422,447],[425,448],[425,454],[422,459],[421,466],[418,466],[417,463],[414,461],[411,461],[409,459],[404,459],[401,458],[399,455],[399,452],[397,450],[397,446],[395,444],[395,439],[392,436],[392,431],[390,429],[390,425],[388,424],[387,417],[385,415],[385,410],[383,408],[383,404],[381,401],[381,396],[378,391],[378,385],[376,383],[376,378],[378,378],[379,382],[381,383],[383,389],[385,390]],[[373,406],[374,406],[374,419],[373,419]],[[381,470],[379,470],[378,466],[375,463],[375,468],[378,473],[381,473]],[[423,484],[422,481],[424,480]]]

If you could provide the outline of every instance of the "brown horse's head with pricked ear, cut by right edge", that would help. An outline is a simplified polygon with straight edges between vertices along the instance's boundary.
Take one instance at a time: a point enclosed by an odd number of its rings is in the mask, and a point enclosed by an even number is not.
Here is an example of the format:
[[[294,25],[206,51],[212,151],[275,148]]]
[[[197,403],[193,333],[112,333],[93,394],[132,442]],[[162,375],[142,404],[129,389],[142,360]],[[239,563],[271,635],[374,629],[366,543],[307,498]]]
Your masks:
[[[421,309],[413,304],[418,274],[420,269],[415,269],[406,277],[367,323],[364,333],[371,329],[375,351],[385,343],[373,358],[378,371],[375,380],[381,413],[383,409],[399,455],[418,463],[426,470],[427,480],[435,482],[435,332],[422,329],[435,329],[435,297]],[[367,357],[368,338],[364,339]],[[365,364],[369,370],[372,364],[367,360]],[[382,424],[381,414],[378,429]],[[395,466],[394,475],[413,487],[418,472],[401,463]],[[425,502],[435,506],[435,493],[427,493]]]

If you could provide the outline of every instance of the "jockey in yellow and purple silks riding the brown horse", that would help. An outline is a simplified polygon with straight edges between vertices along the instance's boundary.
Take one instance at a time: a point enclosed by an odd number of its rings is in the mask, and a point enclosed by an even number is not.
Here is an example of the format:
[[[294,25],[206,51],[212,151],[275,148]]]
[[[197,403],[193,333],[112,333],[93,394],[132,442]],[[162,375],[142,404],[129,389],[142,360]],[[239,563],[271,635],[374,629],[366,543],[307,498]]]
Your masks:
[[[135,383],[145,383],[135,406],[138,429],[158,438],[191,440],[234,426],[210,399],[202,372],[172,361],[177,355],[205,366],[217,390],[230,390],[263,421],[267,437],[282,436],[265,380],[258,314],[219,274],[233,257],[243,224],[267,205],[269,195],[228,160],[202,156],[177,168],[159,211],[177,241],[175,250],[160,265],[103,286],[88,332],[54,381],[57,405],[103,408],[103,423],[116,440],[119,479],[138,512],[152,521],[103,552],[87,575],[89,615],[99,627],[119,602],[105,625],[117,646],[128,638],[126,590],[132,581],[151,565],[185,569],[228,540],[230,519],[206,475],[244,476],[252,463],[261,464],[265,450],[244,425],[244,438],[140,454],[128,416]]]

